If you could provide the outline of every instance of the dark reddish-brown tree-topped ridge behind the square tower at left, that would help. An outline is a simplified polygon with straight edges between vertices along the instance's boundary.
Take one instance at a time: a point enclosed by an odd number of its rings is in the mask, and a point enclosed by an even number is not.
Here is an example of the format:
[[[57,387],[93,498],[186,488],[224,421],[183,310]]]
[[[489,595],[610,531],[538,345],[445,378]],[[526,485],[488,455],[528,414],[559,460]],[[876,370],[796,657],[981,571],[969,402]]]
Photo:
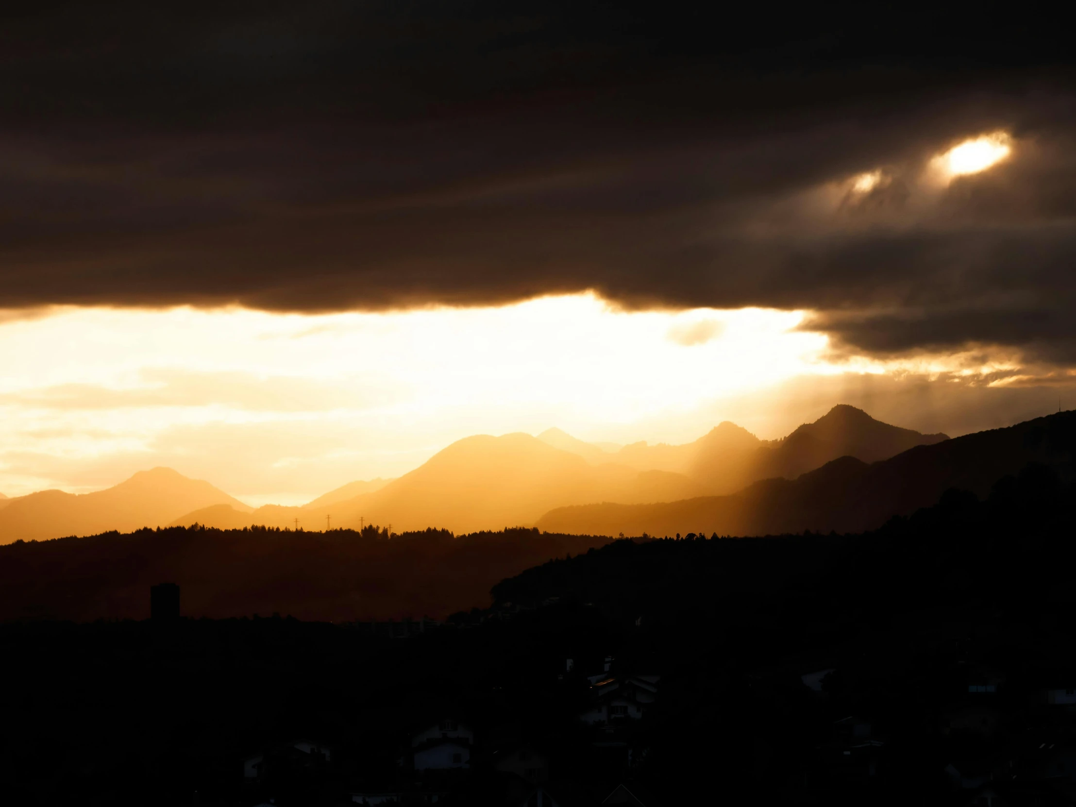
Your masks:
[[[190,617],[279,612],[354,621],[484,607],[498,580],[607,538],[532,529],[394,535],[170,527],[0,547],[0,620],[145,619],[146,592],[180,584]]]

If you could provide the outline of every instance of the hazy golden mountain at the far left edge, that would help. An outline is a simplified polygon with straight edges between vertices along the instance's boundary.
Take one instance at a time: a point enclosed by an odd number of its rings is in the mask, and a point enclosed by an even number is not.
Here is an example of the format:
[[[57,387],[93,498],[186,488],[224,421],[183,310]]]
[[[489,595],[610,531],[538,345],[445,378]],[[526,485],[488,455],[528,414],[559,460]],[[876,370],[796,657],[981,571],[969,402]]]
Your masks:
[[[10,499],[0,509],[0,543],[165,526],[212,505],[251,510],[209,482],[154,468],[96,493],[42,491]]]

